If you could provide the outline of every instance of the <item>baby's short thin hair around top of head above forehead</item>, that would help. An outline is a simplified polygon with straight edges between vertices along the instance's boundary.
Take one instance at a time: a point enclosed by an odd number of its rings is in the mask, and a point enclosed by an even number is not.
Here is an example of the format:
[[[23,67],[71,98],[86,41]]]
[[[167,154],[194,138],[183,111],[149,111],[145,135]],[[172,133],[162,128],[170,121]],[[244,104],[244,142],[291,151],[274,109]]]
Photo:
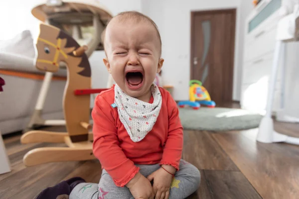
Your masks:
[[[160,54],[161,54],[162,41],[161,41],[161,36],[160,36],[159,30],[158,30],[158,27],[155,24],[155,22],[151,18],[149,18],[147,15],[142,14],[138,11],[125,11],[125,12],[121,12],[121,13],[117,14],[113,18],[117,19],[120,22],[124,22],[124,21],[127,21],[127,20],[135,20],[135,22],[137,22],[137,23],[142,21],[142,20],[146,20],[146,21],[150,22],[153,25],[153,27],[155,28],[156,32],[157,32],[157,36],[158,36],[159,43],[160,43]],[[108,26],[108,24],[107,24],[107,26]],[[101,35],[104,50],[105,50],[105,33],[106,33],[107,26],[105,27],[105,29],[103,30],[102,35]]]

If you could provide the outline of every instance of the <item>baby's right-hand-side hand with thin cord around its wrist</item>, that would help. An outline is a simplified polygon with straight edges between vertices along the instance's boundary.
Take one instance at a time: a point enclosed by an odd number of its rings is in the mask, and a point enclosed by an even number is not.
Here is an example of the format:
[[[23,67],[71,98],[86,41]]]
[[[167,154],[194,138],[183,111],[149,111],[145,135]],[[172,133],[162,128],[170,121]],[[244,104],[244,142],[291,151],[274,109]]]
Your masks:
[[[175,168],[169,165],[163,165],[166,171],[174,174]],[[158,169],[148,176],[149,181],[153,180],[153,194],[155,199],[168,199],[169,190],[172,181],[172,175],[167,173],[163,168]]]

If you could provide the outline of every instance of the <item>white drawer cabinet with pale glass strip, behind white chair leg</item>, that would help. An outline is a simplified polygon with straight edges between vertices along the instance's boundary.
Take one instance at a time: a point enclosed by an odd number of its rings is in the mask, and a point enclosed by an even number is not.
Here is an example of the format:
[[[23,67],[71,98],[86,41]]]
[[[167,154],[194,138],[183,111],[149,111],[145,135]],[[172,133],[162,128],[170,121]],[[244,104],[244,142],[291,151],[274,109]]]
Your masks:
[[[244,109],[266,109],[281,5],[282,0],[264,0],[247,17],[240,101]],[[274,111],[280,108],[281,103],[281,68],[276,83]]]

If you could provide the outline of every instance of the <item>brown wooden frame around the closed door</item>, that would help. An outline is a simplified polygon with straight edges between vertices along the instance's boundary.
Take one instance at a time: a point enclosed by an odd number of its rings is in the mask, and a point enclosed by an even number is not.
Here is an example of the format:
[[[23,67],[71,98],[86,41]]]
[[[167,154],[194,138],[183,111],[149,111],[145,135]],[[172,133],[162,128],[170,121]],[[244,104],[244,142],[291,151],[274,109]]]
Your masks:
[[[193,79],[192,75],[194,74],[194,68],[193,68],[193,56],[194,55],[194,42],[192,41],[194,35],[194,17],[196,14],[219,14],[219,13],[232,13],[234,20],[233,20],[233,25],[232,25],[232,38],[233,38],[233,45],[231,46],[230,49],[230,55],[231,55],[231,63],[229,64],[231,66],[230,68],[230,77],[229,79],[231,80],[230,82],[230,87],[229,87],[229,93],[230,93],[230,101],[233,100],[233,77],[234,77],[234,58],[235,58],[235,43],[236,43],[236,13],[237,13],[237,8],[228,8],[228,9],[215,9],[215,10],[198,10],[198,11],[191,11],[191,33],[190,33],[190,80]]]

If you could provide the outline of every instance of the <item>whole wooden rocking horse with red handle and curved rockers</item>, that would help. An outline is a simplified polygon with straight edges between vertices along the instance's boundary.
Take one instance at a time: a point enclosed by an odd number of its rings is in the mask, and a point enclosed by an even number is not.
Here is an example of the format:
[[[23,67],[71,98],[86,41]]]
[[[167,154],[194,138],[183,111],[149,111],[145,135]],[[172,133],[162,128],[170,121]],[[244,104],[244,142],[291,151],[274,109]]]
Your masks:
[[[89,124],[90,94],[106,89],[91,89],[91,68],[81,46],[64,31],[44,23],[39,25],[36,42],[36,67],[56,72],[59,63],[67,66],[67,82],[63,95],[63,111],[67,132],[33,130],[21,136],[21,143],[65,143],[68,147],[42,147],[25,154],[26,166],[48,162],[95,159],[92,151],[92,127]]]

